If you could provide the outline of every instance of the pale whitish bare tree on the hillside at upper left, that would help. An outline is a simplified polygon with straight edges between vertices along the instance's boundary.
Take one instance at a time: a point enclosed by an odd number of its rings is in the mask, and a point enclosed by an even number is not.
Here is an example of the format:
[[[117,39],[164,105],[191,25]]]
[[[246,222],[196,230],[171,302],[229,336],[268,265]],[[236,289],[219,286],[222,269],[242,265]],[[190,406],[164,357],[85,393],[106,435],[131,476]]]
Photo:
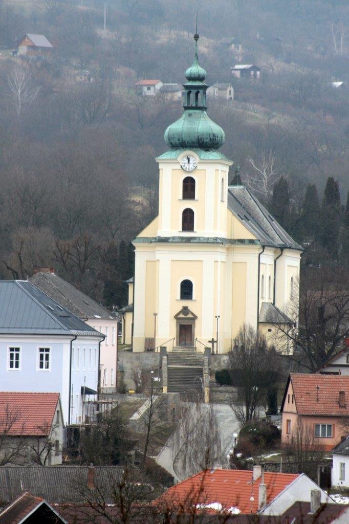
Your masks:
[[[24,108],[34,102],[40,87],[34,84],[31,73],[20,66],[16,66],[7,75],[7,84],[18,121],[20,122]]]

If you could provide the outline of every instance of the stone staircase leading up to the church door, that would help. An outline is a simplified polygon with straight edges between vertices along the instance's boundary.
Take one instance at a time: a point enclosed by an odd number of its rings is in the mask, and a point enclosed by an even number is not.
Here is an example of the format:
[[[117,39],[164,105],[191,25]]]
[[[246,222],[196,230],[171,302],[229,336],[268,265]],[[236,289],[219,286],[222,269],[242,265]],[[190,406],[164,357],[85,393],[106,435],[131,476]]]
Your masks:
[[[167,391],[179,393],[183,401],[204,400],[204,355],[182,346],[167,354]]]

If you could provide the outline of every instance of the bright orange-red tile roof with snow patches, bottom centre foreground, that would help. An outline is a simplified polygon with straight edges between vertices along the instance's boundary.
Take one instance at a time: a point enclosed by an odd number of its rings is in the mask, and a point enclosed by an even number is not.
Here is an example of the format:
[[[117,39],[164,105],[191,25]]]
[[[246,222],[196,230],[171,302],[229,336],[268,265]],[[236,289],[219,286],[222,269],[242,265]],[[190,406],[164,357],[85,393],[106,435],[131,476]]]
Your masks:
[[[299,475],[264,473],[267,485],[267,504],[279,495]],[[198,505],[207,508],[219,503],[225,510],[238,508],[242,514],[258,510],[258,488],[261,477],[252,482],[253,472],[244,470],[206,470],[187,478],[167,490],[155,500],[155,504],[190,509]],[[253,497],[254,501],[250,501]],[[207,508],[210,510],[210,508]]]

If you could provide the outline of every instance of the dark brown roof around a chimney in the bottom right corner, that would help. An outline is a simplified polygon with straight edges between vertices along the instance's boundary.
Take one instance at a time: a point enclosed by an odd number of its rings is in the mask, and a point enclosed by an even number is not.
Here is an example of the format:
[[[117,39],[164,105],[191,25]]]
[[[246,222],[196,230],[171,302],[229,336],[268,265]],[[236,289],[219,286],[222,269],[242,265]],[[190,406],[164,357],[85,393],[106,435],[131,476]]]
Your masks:
[[[321,504],[318,511],[311,514],[309,502],[296,502],[282,514],[282,517],[291,517],[292,524],[331,524],[348,511],[348,508],[349,506],[343,504]]]

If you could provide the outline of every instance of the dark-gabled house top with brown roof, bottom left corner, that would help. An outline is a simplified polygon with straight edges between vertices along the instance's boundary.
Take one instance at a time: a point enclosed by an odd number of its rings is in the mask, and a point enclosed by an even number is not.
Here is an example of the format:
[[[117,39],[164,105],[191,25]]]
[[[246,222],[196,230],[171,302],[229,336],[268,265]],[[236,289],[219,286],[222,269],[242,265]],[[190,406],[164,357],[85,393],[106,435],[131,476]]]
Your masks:
[[[29,492],[21,493],[15,500],[0,509],[0,524],[68,524],[57,510],[42,497],[34,497]]]

